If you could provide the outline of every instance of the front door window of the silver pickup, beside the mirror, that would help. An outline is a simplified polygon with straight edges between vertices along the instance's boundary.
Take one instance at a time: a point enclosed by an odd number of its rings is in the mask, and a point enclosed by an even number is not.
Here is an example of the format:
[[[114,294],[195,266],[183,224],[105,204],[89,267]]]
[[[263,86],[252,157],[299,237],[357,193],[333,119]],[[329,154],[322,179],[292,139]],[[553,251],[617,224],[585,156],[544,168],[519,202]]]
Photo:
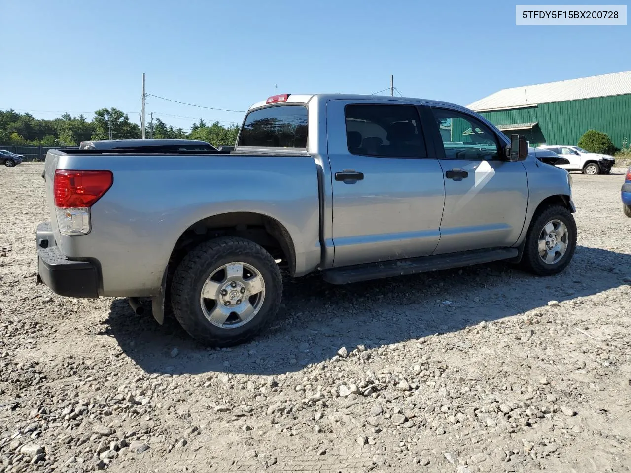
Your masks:
[[[433,117],[439,127],[445,148],[445,158],[451,160],[496,160],[499,144],[495,133],[470,115],[433,108]]]

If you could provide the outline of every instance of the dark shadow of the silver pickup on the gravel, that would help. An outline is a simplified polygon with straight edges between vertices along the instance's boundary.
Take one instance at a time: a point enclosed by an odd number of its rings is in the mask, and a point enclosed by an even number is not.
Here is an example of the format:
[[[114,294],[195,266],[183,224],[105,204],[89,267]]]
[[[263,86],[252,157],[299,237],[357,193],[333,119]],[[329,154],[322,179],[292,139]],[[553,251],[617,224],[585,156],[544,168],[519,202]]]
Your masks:
[[[275,323],[255,341],[209,349],[170,318],[158,325],[136,316],[126,299],[112,302],[104,335],[148,373],[280,375],[348,351],[455,332],[627,284],[631,255],[578,247],[572,264],[553,277],[533,277],[491,264],[368,283],[333,286],[317,274],[287,281]],[[628,280],[627,280],[628,281]],[[149,311],[147,311],[149,312]],[[177,348],[177,354],[172,353]],[[173,356],[172,356],[173,355]]]

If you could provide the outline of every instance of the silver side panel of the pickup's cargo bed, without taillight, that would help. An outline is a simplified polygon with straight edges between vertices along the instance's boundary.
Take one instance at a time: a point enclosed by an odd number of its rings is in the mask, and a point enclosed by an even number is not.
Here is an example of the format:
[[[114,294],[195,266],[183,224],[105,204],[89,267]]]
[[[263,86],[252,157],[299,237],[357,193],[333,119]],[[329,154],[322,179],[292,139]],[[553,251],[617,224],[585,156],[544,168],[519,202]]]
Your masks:
[[[55,170],[109,170],[112,187],[91,207],[87,235],[61,235]],[[210,216],[269,216],[292,237],[295,274],[321,260],[319,188],[306,153],[81,149],[50,151],[45,165],[55,244],[68,259],[97,267],[101,296],[151,296],[182,233]]]

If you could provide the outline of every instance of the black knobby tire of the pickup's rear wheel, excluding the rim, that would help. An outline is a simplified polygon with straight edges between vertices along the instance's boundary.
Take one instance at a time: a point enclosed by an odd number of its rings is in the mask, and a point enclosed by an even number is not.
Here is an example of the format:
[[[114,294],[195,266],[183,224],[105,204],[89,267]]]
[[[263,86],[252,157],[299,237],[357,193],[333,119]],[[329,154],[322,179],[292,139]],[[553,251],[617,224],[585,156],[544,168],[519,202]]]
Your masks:
[[[200,304],[201,289],[218,267],[229,262],[255,267],[265,283],[259,312],[245,325],[222,328],[211,324]],[[214,347],[242,344],[257,336],[274,318],[283,296],[283,279],[273,257],[261,246],[238,237],[220,237],[193,248],[180,262],[171,283],[173,313],[194,339]]]

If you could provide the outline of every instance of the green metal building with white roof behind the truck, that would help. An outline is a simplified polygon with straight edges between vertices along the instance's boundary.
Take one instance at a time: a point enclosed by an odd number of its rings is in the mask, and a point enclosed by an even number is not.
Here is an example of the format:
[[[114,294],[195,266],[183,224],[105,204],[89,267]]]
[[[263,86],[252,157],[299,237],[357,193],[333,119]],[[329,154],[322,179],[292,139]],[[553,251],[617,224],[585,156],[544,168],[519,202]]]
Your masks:
[[[593,128],[621,148],[631,141],[631,71],[502,89],[467,107],[530,146],[572,146]]]

